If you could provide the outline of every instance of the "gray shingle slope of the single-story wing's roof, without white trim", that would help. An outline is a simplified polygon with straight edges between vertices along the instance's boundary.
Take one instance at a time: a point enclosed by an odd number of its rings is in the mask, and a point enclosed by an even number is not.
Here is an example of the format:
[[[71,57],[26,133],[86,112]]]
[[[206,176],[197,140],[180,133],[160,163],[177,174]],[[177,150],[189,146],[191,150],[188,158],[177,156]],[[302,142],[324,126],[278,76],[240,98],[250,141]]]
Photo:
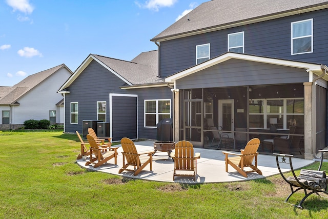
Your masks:
[[[142,52],[131,62],[95,55],[100,62],[124,77],[132,85],[163,82],[157,77],[157,50]]]

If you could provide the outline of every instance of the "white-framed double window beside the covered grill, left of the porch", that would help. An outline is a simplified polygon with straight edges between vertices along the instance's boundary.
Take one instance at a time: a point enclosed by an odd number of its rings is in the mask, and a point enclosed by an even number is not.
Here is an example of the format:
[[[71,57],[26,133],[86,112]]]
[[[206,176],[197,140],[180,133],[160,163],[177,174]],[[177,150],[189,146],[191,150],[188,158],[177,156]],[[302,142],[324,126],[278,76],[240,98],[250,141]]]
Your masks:
[[[171,117],[170,99],[145,100],[145,127],[156,128],[163,118]]]

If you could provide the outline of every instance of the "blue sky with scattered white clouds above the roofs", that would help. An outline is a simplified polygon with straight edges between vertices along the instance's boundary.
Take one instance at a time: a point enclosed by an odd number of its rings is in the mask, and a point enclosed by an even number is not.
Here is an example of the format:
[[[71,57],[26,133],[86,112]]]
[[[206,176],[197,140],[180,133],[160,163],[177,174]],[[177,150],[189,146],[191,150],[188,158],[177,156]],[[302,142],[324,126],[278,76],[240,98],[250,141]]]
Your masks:
[[[131,61],[150,39],[209,0],[0,0],[0,86],[90,53]]]

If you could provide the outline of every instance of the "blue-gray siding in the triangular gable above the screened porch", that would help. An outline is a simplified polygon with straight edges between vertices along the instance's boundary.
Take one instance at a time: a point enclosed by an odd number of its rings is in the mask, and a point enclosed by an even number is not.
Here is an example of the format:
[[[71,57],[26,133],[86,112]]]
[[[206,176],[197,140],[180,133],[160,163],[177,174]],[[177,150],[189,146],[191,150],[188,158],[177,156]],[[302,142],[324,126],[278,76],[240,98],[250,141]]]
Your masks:
[[[309,82],[305,69],[230,59],[177,81],[179,89]]]

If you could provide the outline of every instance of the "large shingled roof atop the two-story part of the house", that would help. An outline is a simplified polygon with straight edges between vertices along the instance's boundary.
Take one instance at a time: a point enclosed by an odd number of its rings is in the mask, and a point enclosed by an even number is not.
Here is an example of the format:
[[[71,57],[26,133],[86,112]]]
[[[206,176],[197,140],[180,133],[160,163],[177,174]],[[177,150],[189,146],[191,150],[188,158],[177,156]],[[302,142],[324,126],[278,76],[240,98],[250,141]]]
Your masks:
[[[327,0],[212,0],[199,5],[151,41],[166,41],[323,8],[328,8]]]

